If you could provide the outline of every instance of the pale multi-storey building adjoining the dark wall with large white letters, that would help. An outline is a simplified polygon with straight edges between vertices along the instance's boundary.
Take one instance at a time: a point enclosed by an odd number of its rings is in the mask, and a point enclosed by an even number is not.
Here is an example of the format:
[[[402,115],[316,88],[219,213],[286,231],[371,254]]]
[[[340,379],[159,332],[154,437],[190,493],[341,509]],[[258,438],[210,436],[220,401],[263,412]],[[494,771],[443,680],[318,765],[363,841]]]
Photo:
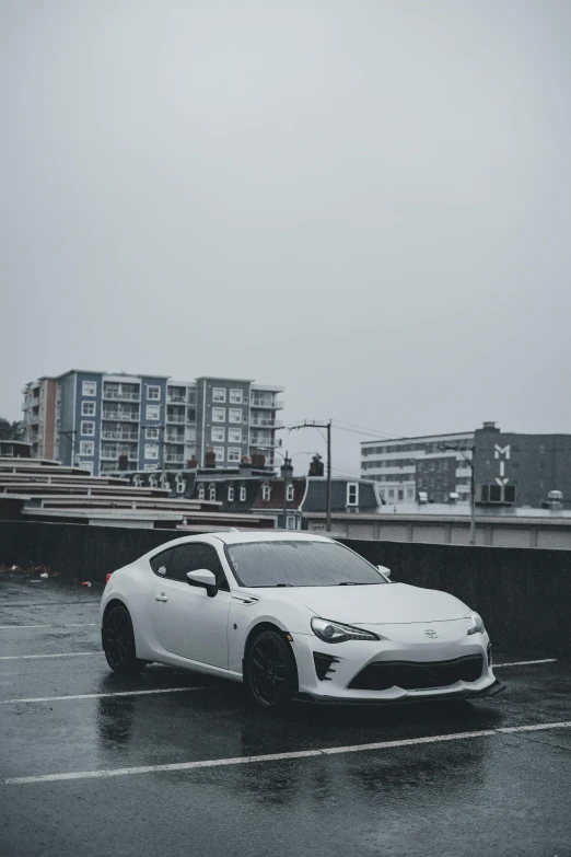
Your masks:
[[[451,494],[457,495],[458,502],[468,502],[471,470],[466,459],[471,460],[474,436],[474,431],[461,431],[365,441],[361,443],[361,474],[377,483],[385,503],[415,502],[419,494],[430,502],[447,502]]]

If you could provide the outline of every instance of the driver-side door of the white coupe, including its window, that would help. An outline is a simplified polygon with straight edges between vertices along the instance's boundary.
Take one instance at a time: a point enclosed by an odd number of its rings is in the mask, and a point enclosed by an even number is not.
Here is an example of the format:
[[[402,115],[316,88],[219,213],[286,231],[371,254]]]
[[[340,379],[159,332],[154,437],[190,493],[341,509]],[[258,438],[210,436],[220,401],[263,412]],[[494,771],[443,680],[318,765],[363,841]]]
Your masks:
[[[188,571],[199,568],[213,572],[218,584],[214,598],[206,589],[188,583]],[[166,600],[160,601],[161,598]],[[228,669],[230,587],[212,545],[188,542],[173,548],[173,556],[165,565],[165,579],[159,581],[153,599],[159,610],[167,607],[159,618],[163,638],[174,647],[168,651]],[[166,623],[170,627],[165,627]]]

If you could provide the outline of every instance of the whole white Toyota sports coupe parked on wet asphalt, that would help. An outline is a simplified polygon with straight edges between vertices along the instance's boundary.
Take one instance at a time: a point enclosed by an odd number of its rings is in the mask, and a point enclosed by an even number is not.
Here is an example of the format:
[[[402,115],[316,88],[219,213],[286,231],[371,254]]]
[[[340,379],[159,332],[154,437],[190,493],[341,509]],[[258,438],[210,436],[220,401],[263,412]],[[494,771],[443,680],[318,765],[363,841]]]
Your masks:
[[[107,576],[103,649],[117,672],[159,661],[244,682],[266,709],[503,690],[480,616],[388,575],[317,535],[176,538]]]

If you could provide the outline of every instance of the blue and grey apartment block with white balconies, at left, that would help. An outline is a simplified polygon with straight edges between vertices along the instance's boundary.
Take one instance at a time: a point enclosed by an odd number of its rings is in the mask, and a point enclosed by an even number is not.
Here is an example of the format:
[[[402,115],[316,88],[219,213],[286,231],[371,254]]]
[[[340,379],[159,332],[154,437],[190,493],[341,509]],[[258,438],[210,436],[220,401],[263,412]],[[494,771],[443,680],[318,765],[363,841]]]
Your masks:
[[[42,383],[48,381],[54,406],[45,407],[42,425],[51,447],[40,443],[36,429]],[[282,391],[244,379],[175,381],[73,369],[26,385],[26,440],[34,444],[34,456],[81,465],[94,475],[119,467],[176,467],[194,459],[203,466],[209,450],[220,467],[257,451],[272,465]]]

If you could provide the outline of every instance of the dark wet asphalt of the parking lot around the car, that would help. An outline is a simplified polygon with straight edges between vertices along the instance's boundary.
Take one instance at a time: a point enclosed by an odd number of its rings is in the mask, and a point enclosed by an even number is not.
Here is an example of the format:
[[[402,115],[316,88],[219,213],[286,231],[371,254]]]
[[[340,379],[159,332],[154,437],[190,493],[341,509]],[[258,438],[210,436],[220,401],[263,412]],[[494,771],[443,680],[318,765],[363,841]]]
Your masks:
[[[430,740],[569,722],[569,660],[500,668],[508,690],[477,703],[298,704],[268,719],[240,685],[159,665],[137,678],[110,673],[96,624],[101,592],[0,576],[1,855],[571,856],[569,726]],[[36,657],[45,655],[71,657]],[[115,695],[168,688],[184,690]],[[429,740],[110,775],[419,738]],[[7,781],[81,772],[107,775]]]

